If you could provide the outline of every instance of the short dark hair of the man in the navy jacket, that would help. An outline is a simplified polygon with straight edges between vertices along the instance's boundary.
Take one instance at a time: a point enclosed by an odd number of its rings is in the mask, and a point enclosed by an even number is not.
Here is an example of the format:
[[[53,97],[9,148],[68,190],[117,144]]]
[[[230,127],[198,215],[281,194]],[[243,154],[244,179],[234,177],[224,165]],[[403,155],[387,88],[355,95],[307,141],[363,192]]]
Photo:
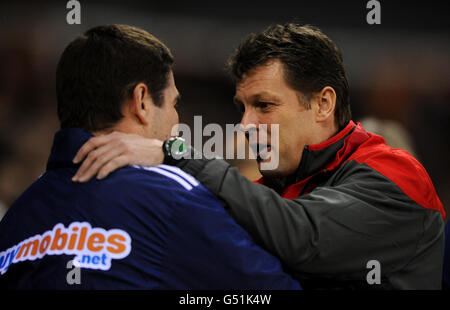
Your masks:
[[[170,50],[127,25],[94,27],[64,50],[56,71],[61,128],[108,129],[122,119],[124,100],[142,82],[161,106],[172,68]]]

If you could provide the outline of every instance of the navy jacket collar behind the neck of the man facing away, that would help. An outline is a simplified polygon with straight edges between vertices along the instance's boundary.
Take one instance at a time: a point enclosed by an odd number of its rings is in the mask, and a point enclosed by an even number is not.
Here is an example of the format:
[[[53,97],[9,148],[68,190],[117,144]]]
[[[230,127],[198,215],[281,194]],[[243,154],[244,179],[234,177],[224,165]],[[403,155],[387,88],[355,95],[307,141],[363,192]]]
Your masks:
[[[64,128],[55,134],[47,170],[76,167],[72,160],[81,146],[93,135],[81,128]]]

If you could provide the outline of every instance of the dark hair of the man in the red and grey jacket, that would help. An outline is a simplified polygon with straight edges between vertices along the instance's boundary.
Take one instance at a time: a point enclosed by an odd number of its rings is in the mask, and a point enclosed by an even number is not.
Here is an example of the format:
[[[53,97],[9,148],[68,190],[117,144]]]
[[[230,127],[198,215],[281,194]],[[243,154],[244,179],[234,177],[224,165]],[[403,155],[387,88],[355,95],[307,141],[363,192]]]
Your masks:
[[[347,76],[341,52],[320,29],[294,23],[269,26],[261,33],[250,34],[228,60],[236,83],[253,69],[280,60],[285,80],[307,99],[325,86],[336,92],[335,118],[339,128],[351,119]],[[303,101],[303,100],[302,100]]]

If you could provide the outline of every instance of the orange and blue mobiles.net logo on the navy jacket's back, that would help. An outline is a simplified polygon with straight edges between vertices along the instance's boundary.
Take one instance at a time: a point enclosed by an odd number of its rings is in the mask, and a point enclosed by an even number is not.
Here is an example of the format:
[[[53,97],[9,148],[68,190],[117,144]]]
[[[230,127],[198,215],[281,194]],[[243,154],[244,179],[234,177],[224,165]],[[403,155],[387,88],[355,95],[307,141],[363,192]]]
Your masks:
[[[109,270],[112,259],[122,259],[131,251],[131,238],[121,229],[92,228],[88,222],[69,227],[56,224],[52,230],[30,237],[0,253],[0,274],[11,264],[34,261],[45,255],[75,255],[79,268]]]

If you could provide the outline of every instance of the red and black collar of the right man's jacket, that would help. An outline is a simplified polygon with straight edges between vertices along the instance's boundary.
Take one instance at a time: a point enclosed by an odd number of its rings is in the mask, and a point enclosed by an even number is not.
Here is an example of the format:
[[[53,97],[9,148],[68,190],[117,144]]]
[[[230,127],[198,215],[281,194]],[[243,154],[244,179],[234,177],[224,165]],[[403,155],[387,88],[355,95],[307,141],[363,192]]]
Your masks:
[[[349,123],[337,134],[319,144],[306,145],[296,172],[276,179],[261,178],[258,183],[282,190],[321,171],[339,167],[367,139],[369,135],[360,123]]]

